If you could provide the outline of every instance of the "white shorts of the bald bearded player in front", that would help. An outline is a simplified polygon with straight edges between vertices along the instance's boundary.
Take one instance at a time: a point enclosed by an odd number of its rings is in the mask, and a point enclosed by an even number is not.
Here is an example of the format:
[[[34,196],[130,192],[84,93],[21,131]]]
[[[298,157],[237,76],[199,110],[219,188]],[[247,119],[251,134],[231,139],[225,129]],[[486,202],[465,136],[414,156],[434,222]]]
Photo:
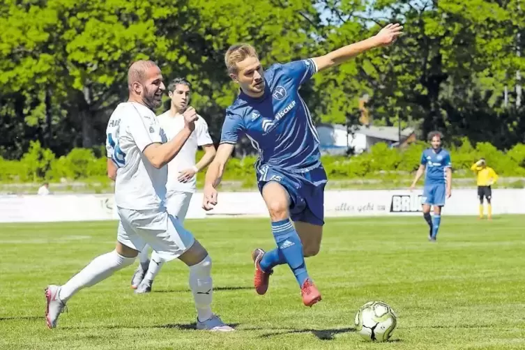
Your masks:
[[[116,239],[126,247],[140,252],[147,243],[160,259],[171,261],[195,243],[192,233],[166,209],[137,211],[117,207],[117,212],[121,220]]]

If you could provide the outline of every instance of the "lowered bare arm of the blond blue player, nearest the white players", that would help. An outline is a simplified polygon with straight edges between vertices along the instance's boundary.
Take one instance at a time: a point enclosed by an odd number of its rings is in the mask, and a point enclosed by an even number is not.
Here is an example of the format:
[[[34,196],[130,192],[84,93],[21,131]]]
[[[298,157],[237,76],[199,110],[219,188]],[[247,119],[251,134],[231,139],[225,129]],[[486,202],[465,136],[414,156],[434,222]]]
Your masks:
[[[204,201],[202,208],[209,211],[217,204],[217,186],[219,185],[222,174],[225,171],[226,163],[234,152],[234,144],[220,144],[213,162],[211,162],[206,172],[206,178],[204,180]]]

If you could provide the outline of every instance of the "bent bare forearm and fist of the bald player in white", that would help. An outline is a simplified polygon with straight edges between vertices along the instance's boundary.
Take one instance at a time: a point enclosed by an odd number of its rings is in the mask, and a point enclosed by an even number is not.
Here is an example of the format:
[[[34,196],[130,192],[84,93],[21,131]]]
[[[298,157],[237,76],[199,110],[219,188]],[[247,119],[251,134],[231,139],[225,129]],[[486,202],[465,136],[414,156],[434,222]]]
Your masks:
[[[198,118],[195,109],[189,107],[183,113],[183,116],[184,128],[173,139],[165,144],[150,144],[144,149],[143,153],[153,167],[160,169],[171,162],[178,152],[181,151],[190,135],[192,135],[193,130],[195,130],[195,121]]]

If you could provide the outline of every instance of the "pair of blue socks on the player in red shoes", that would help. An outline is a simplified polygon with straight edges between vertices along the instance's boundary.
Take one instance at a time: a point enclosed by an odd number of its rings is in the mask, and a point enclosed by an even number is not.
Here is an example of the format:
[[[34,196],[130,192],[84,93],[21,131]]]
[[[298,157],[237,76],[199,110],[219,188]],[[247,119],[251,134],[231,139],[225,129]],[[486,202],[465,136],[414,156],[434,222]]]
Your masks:
[[[272,222],[273,238],[277,248],[266,252],[259,262],[264,271],[273,266],[288,264],[300,287],[309,278],[303,256],[303,244],[289,219]]]

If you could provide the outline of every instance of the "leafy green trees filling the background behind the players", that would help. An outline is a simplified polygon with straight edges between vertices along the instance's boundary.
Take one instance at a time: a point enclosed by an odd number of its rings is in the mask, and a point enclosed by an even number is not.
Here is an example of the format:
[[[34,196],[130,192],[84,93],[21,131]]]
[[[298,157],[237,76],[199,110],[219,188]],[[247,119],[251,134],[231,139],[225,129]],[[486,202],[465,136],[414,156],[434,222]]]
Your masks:
[[[251,43],[268,67],[325,54],[388,22],[404,25],[395,45],[303,86],[314,118],[358,123],[367,94],[374,125],[438,129],[449,142],[510,149],[525,142],[519,2],[0,0],[0,156],[18,159],[35,140],[56,155],[103,144],[136,59],[157,62],[165,79],[189,79],[192,105],[218,141],[238,91],[224,67],[229,45]]]

